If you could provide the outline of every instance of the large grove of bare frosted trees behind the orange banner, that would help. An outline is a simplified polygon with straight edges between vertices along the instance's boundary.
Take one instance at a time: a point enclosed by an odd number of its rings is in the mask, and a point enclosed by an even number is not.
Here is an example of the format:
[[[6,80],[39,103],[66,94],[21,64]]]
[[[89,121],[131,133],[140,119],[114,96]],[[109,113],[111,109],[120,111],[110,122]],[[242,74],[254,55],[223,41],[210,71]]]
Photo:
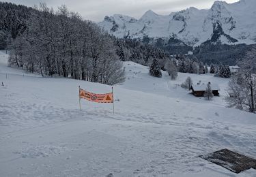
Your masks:
[[[93,22],[65,6],[57,12],[40,4],[24,33],[10,45],[10,65],[42,76],[115,84],[124,81],[113,39]]]

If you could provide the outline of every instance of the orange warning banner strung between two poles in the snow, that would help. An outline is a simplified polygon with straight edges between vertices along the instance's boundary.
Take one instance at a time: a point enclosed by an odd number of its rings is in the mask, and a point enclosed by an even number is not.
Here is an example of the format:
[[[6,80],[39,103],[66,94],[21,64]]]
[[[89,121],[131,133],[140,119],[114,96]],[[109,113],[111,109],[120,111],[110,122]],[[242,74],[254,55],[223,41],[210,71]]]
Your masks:
[[[96,94],[79,89],[79,97],[96,103],[113,103],[113,93]]]

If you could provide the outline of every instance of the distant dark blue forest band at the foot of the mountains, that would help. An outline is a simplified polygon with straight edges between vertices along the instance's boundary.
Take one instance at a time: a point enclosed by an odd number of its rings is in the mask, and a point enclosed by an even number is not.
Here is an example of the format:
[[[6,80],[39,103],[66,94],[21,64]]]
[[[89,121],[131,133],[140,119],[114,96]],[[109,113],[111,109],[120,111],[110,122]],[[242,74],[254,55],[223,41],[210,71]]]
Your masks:
[[[193,52],[193,55],[188,56],[190,59],[197,58],[198,61],[207,63],[208,65],[236,65],[237,61],[244,58],[246,52],[255,45],[204,43],[193,48],[177,39],[175,35],[169,39],[150,39],[149,37],[144,37],[143,42],[145,42],[145,44],[152,44],[171,55],[187,54],[189,51]]]

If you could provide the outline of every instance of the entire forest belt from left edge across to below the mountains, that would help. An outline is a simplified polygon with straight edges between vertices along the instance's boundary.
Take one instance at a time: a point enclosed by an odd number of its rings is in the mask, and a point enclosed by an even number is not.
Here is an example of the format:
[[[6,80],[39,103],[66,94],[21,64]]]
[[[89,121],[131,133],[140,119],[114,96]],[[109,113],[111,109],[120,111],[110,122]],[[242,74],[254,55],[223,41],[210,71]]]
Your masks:
[[[115,84],[124,81],[120,61],[150,66],[154,59],[163,70],[167,61],[175,61],[179,71],[204,73],[206,65],[235,65],[248,48],[245,44],[192,48],[175,36],[119,39],[65,5],[55,12],[44,3],[31,8],[0,2],[0,49],[10,50],[10,65],[42,76]],[[190,69],[180,69],[182,63]]]

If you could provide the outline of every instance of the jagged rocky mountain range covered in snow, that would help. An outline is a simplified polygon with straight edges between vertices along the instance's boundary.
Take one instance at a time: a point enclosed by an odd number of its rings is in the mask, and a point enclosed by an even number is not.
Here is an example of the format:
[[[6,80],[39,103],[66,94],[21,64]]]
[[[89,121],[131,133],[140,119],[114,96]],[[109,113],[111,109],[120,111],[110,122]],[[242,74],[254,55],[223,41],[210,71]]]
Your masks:
[[[256,1],[236,3],[215,1],[210,10],[190,7],[168,16],[152,10],[139,19],[129,16],[106,16],[99,25],[117,37],[177,37],[188,45],[209,41],[223,44],[256,43]]]

